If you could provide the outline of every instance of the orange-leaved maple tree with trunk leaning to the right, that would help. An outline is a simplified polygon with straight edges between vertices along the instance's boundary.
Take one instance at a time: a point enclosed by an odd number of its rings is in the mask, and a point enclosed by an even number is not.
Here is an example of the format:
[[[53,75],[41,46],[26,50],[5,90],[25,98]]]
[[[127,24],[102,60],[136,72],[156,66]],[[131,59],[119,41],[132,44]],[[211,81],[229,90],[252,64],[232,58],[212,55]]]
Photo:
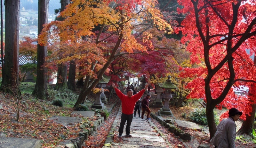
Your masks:
[[[159,30],[172,33],[171,26],[162,19],[162,14],[155,4],[157,4],[156,0],[114,2],[74,0],[60,13],[61,17],[66,18],[64,21],[52,21],[45,26],[39,36],[40,44],[46,43],[46,37],[56,41],[60,37],[70,44],[80,43],[84,39],[86,43],[94,44],[98,49],[95,55],[100,55],[100,51],[109,50],[108,58],[104,56],[100,58],[105,59],[106,62],[100,62],[99,59],[87,60],[87,57],[80,56],[80,53],[74,53],[87,63],[84,67],[84,71],[87,72],[85,85],[74,107],[86,98],[120,53],[147,51],[146,46],[138,43],[136,38],[145,34],[149,28],[157,27]],[[100,29],[95,30],[95,26],[100,26]],[[132,32],[140,33],[136,37]]]

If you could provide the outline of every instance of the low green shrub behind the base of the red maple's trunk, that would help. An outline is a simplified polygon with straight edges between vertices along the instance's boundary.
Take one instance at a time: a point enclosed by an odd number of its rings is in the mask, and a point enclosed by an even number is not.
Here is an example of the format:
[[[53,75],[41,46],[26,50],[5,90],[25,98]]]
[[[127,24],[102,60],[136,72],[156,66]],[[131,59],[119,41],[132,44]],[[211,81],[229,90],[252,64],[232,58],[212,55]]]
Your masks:
[[[207,117],[206,117],[206,109],[195,109],[194,112],[191,112],[189,114],[189,119],[191,121],[194,121],[196,123],[202,124],[202,125],[208,125]],[[217,116],[217,113],[214,111],[214,119],[216,125],[219,123],[219,118]]]

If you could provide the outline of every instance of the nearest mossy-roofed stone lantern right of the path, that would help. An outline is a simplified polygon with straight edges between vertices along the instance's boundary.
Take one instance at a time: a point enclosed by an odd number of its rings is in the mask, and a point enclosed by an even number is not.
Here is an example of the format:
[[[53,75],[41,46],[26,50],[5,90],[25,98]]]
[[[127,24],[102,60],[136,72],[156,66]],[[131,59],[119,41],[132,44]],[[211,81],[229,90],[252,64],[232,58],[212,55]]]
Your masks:
[[[158,110],[158,115],[173,116],[172,111],[169,108],[169,101],[172,99],[172,95],[176,97],[177,87],[172,84],[170,75],[168,75],[167,78],[166,82],[158,84],[160,88],[164,88],[164,94],[162,95],[162,98],[164,99],[164,106]]]

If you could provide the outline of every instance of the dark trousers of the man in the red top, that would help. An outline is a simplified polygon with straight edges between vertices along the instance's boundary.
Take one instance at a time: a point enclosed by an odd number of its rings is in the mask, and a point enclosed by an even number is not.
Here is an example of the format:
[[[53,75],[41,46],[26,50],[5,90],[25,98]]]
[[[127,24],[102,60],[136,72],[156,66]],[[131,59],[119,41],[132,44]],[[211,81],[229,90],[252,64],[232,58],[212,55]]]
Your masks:
[[[133,118],[133,114],[131,115],[126,115],[124,113],[122,113],[121,115],[121,123],[120,123],[120,127],[118,129],[119,135],[123,134],[124,131],[124,124],[126,123],[126,128],[125,128],[125,134],[129,135],[130,134],[130,128],[131,128],[131,124],[132,124],[132,118]]]

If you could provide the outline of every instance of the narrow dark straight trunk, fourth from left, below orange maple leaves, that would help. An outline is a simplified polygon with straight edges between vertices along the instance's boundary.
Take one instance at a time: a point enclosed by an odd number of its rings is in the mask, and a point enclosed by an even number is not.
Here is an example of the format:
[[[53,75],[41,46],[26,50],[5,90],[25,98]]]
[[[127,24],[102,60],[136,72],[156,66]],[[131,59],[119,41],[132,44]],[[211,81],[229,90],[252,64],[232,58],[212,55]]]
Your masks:
[[[69,71],[68,71],[68,89],[76,91],[75,79],[76,79],[76,62],[74,60],[71,60],[69,63]]]

